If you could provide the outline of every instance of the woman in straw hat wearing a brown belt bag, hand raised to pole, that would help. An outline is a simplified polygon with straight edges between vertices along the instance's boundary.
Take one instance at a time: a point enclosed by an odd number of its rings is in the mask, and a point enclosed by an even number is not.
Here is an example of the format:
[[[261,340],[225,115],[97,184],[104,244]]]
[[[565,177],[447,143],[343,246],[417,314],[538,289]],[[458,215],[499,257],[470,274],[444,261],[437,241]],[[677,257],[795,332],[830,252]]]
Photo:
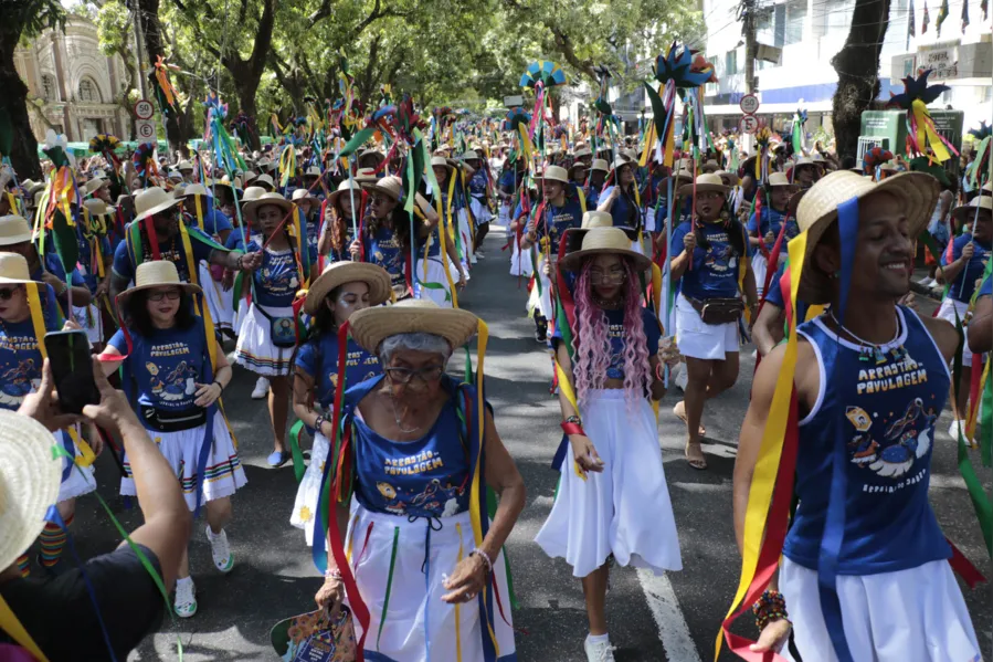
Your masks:
[[[704,406],[737,381],[741,297],[748,300],[751,319],[758,297],[744,228],[727,210],[728,187],[717,175],[699,175],[695,185],[679,188],[680,196],[694,191],[694,219],[673,231],[669,246],[672,277],[678,286],[676,337],[687,376],[685,399],[673,411],[686,421],[689,465],[706,469],[700,449]]]

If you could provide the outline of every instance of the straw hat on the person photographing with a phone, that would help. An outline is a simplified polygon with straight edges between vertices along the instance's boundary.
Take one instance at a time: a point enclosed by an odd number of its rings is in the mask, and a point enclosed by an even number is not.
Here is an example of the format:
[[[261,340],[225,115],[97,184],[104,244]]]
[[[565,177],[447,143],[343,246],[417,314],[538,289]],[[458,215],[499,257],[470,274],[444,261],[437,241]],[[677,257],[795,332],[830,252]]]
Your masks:
[[[3,532],[0,566],[3,568],[34,544],[45,526],[45,513],[59,498],[62,458],[52,452],[54,445],[55,438],[40,422],[13,411],[0,411],[0,530]]]

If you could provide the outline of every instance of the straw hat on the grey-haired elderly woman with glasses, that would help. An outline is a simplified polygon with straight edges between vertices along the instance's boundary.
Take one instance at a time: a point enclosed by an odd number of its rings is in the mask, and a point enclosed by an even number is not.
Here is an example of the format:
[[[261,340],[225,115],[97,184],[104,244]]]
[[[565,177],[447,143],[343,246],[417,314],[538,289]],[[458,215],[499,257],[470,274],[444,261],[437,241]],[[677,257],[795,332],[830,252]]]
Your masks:
[[[463,308],[442,308],[426,298],[409,298],[392,306],[358,311],[349,318],[351,337],[366,351],[376,353],[380,344],[398,334],[433,334],[462,347],[476,335],[479,319]]]

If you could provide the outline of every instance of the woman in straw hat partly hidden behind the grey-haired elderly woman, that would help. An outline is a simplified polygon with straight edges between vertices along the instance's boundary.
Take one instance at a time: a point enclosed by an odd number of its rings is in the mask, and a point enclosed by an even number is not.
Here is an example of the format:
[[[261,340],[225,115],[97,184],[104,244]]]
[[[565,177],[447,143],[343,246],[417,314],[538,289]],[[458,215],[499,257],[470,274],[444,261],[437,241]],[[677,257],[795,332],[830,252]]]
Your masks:
[[[382,375],[379,357],[349,339],[345,374],[339,376],[338,329],[352,313],[390,301],[390,274],[378,264],[337,262],[328,265],[307,291],[304,309],[314,321],[310,337],[294,361],[293,412],[314,433],[310,464],[297,490],[289,523],[314,543],[314,518],[324,465],[330,453],[331,410],[342,388]]]

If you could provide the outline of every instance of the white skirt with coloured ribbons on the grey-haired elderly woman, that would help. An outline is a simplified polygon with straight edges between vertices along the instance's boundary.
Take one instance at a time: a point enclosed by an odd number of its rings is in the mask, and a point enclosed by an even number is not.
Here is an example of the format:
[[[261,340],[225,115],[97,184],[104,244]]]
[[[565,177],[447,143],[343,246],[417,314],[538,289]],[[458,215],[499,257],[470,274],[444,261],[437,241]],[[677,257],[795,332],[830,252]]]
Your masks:
[[[469,514],[443,517],[440,522],[441,530],[430,534],[430,564],[425,564],[427,523],[424,519],[410,522],[403,516],[372,513],[358,505],[353,508],[346,549],[351,549],[356,582],[371,616],[366,638],[367,660],[483,660],[483,637],[487,628],[485,616],[480,617],[479,600],[455,606],[441,599],[448,592],[442,586],[444,577],[452,575],[459,557],[465,558],[476,546]],[[394,536],[397,555],[391,586],[390,559],[393,557]],[[493,559],[493,569],[499,600],[493,585],[488,592],[493,599],[497,660],[511,662],[517,655],[503,553]],[[383,613],[388,589],[389,606]],[[355,624],[358,640],[362,629],[358,620]]]

